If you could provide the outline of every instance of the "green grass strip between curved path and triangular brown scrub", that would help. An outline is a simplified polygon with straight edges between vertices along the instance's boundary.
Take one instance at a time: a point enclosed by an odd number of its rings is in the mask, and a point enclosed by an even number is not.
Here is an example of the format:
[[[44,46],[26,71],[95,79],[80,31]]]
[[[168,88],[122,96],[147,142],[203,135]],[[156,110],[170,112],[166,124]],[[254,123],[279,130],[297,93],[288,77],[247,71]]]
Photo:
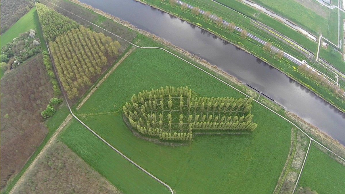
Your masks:
[[[76,119],[59,135],[59,139],[124,193],[169,192],[164,185],[128,162]]]

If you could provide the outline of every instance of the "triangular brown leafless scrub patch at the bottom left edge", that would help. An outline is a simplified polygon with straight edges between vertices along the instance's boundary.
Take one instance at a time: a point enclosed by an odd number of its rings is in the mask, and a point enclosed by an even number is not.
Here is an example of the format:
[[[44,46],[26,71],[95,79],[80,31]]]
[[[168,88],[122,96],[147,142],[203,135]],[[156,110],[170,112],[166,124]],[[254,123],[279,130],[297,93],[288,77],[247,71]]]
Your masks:
[[[121,193],[65,144],[55,142],[12,193]]]

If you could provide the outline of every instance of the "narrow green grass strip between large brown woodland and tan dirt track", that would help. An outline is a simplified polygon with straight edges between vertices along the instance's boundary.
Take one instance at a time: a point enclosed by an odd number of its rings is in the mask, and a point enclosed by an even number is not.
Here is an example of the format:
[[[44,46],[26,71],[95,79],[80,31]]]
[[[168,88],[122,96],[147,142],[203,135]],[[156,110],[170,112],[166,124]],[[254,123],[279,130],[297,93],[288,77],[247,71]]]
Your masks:
[[[23,168],[20,170],[20,172],[11,180],[10,184],[3,190],[3,193],[9,193],[12,189],[12,187],[17,183],[19,178],[23,175],[23,173],[26,171],[26,169],[30,166],[32,161],[36,158],[36,156],[41,152],[42,148],[46,145],[50,137],[55,133],[55,131],[59,128],[61,123],[66,119],[67,115],[69,114],[69,110],[67,106],[62,106],[58,109],[58,111],[47,120],[47,127],[48,127],[48,134],[43,139],[42,143],[38,146],[36,151],[31,155],[31,157],[28,159],[28,161],[25,163]]]

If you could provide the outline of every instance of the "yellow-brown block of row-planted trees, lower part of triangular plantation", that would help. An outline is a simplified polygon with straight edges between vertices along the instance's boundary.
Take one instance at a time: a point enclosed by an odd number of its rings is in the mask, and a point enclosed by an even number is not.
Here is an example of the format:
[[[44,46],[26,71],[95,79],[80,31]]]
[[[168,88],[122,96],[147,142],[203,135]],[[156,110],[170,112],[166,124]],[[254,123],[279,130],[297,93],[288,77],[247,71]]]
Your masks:
[[[49,48],[68,98],[77,97],[80,88],[90,86],[102,73],[102,67],[119,55],[120,47],[119,42],[83,26],[50,42]]]

